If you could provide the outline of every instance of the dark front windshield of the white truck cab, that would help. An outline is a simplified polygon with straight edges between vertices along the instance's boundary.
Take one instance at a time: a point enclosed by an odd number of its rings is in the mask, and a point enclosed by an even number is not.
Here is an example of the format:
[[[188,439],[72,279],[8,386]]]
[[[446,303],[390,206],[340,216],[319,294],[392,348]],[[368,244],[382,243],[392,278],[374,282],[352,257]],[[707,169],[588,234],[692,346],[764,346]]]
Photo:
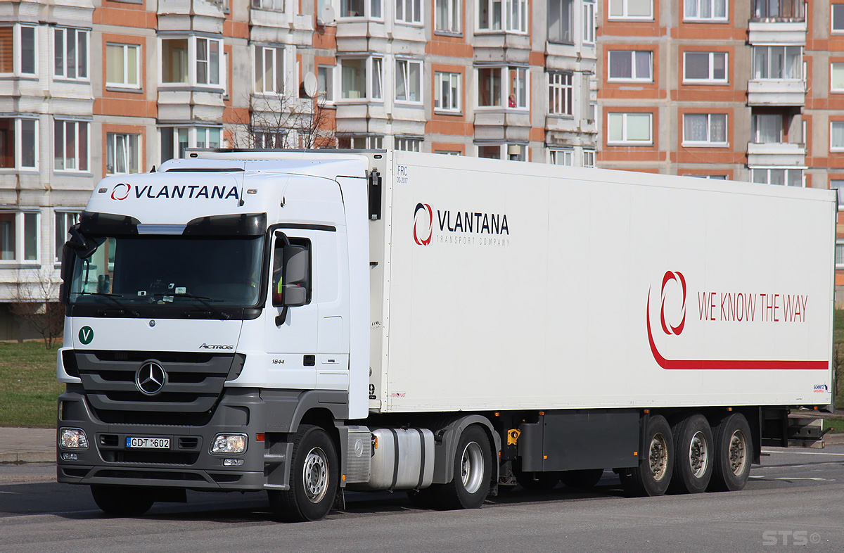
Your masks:
[[[96,236],[74,258],[70,302],[118,306],[256,306],[263,236]]]

